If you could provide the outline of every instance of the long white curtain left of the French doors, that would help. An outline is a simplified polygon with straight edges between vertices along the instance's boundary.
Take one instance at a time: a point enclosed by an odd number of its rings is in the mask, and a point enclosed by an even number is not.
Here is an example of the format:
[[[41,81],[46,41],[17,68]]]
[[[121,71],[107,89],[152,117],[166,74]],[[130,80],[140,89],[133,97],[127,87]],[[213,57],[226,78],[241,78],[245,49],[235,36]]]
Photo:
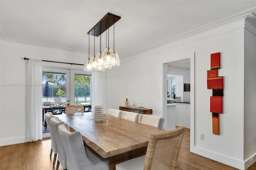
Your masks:
[[[28,60],[26,105],[28,141],[42,140],[42,60]]]

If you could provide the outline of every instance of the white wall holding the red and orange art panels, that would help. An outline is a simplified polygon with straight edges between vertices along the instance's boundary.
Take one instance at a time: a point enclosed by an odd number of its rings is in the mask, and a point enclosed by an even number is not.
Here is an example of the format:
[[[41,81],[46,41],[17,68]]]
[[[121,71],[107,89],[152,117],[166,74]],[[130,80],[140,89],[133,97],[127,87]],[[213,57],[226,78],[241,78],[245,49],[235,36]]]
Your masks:
[[[243,100],[244,91],[238,90],[244,88],[244,18],[138,53],[129,59],[124,58],[120,66],[122,77],[116,77],[116,81],[112,79],[115,81],[112,83],[123,85],[122,101],[132,98],[144,102],[153,109],[153,115],[162,116],[162,105],[166,102],[162,99],[162,95],[165,95],[162,94],[163,63],[184,59],[192,52],[195,52],[195,120],[192,121],[196,126],[191,127],[194,132],[191,132],[190,150],[244,169],[244,104],[239,102]],[[221,53],[218,75],[224,76],[220,135],[212,134],[212,90],[207,89],[206,81],[207,70],[210,70],[210,54],[216,52]],[[111,75],[114,70],[108,73]],[[108,89],[108,93],[114,90],[115,87]],[[160,98],[157,97],[158,93]],[[116,103],[116,107],[122,104],[120,101],[113,103]],[[204,134],[204,140],[199,140],[200,133]]]

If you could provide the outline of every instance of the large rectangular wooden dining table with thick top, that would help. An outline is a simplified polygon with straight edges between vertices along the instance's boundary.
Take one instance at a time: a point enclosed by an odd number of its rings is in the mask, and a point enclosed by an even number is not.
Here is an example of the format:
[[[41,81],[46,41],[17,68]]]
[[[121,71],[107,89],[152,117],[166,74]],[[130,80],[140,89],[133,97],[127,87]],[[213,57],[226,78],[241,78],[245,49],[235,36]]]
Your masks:
[[[70,131],[79,131],[84,142],[103,158],[109,158],[109,169],[115,170],[116,164],[146,154],[150,135],[167,131],[126,119],[110,116],[106,121],[90,120],[90,113],[56,115],[70,127]]]

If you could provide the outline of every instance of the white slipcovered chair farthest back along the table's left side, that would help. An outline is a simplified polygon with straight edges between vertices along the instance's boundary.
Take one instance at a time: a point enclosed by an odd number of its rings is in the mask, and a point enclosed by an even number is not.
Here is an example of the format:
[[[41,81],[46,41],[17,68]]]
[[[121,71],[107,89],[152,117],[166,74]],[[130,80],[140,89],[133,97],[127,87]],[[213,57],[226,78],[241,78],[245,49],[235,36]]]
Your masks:
[[[52,152],[54,152],[54,158],[53,158],[53,162],[52,162],[52,165],[54,166],[55,162],[56,162],[57,154],[58,154],[58,149],[57,149],[57,144],[56,144],[55,139],[54,139],[54,135],[52,133],[52,128],[49,126],[50,125],[50,119],[52,117],[54,117],[54,115],[52,115],[52,112],[47,112],[44,115],[44,119],[45,119],[45,121],[46,121],[46,123],[48,125],[48,128],[50,130],[50,134],[51,134],[52,144],[51,144],[50,157],[52,157]]]

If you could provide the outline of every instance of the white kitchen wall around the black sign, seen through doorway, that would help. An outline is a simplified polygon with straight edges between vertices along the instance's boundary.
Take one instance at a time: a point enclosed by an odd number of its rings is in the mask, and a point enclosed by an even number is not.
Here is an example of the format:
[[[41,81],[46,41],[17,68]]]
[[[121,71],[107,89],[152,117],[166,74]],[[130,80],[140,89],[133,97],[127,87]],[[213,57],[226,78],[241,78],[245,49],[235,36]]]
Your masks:
[[[183,84],[181,86],[181,90],[182,90],[182,99],[181,100],[190,101],[190,92],[184,91],[184,83],[190,84],[190,69],[182,69],[182,68],[177,68],[177,67],[168,67],[167,69],[168,69],[168,74],[183,76]]]

